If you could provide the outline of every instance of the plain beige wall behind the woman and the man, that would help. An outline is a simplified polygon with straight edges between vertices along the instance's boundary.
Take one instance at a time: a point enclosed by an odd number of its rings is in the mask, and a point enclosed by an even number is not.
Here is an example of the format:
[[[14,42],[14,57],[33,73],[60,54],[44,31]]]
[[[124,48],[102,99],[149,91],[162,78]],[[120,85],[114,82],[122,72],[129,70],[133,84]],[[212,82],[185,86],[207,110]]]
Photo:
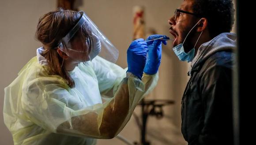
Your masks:
[[[183,0],[77,0],[83,10],[119,50],[117,64],[127,67],[126,51],[133,35],[133,8],[144,7],[146,36],[150,30],[169,34],[168,20]],[[0,4],[0,145],[13,145],[11,134],[4,125],[4,87],[16,77],[19,70],[36,55],[41,44],[35,39],[38,19],[56,10],[57,0],[1,0]],[[150,116],[147,121],[147,140],[151,145],[186,145],[181,135],[181,97],[188,81],[189,64],[180,62],[171,50],[171,41],[163,46],[158,85],[146,99],[170,99],[173,105],[163,107],[164,117]],[[135,115],[140,117],[138,106]],[[140,140],[139,128],[132,116],[120,133],[131,142]],[[125,145],[117,138],[99,140],[98,145]]]

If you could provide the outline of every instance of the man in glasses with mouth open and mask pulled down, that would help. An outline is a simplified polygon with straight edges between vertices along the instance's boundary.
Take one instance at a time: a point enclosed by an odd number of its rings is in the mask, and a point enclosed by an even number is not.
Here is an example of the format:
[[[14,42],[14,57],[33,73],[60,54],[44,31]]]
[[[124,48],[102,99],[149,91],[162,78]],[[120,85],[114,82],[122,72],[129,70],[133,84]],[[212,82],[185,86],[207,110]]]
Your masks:
[[[188,145],[233,145],[232,0],[184,0],[169,19],[173,51],[191,62],[181,104]]]

